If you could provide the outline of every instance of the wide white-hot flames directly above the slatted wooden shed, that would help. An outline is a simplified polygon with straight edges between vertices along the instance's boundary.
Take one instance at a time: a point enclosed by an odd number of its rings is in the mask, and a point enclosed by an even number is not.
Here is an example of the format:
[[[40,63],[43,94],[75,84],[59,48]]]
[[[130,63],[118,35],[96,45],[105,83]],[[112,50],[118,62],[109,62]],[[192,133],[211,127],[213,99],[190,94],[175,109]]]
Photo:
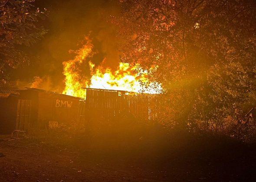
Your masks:
[[[152,68],[153,70],[153,68]],[[148,71],[142,70],[139,65],[130,66],[128,63],[119,63],[118,69],[112,73],[109,68],[97,68],[92,75],[90,88],[102,88],[109,90],[122,90],[130,92],[143,92],[158,94],[161,92],[161,84],[149,83]],[[143,86],[143,85],[147,85]]]

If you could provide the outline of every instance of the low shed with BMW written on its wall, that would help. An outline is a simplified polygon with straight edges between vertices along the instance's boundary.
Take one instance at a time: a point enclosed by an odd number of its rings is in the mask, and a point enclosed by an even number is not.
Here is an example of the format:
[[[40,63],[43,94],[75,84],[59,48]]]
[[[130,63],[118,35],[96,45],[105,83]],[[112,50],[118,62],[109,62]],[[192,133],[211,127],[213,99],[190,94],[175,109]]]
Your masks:
[[[19,92],[16,129],[46,129],[53,122],[72,126],[79,121],[79,97],[37,88]]]

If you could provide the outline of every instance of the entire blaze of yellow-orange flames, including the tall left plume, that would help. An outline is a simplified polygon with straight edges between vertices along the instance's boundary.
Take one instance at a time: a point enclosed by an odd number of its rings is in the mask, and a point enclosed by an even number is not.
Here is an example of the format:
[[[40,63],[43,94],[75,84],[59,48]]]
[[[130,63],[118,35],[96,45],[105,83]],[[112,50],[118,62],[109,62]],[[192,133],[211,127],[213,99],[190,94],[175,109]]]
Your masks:
[[[157,66],[149,70],[143,70],[139,64],[134,66],[128,63],[120,62],[116,71],[110,68],[95,67],[92,62],[88,62],[91,71],[91,78],[86,78],[80,69],[86,58],[92,55],[92,43],[86,39],[87,43],[75,52],[74,59],[63,62],[66,87],[63,94],[75,97],[85,98],[85,89],[101,88],[109,90],[123,90],[130,92],[142,92],[148,94],[159,94],[162,91],[161,84],[158,82],[150,82],[148,74],[157,69]]]

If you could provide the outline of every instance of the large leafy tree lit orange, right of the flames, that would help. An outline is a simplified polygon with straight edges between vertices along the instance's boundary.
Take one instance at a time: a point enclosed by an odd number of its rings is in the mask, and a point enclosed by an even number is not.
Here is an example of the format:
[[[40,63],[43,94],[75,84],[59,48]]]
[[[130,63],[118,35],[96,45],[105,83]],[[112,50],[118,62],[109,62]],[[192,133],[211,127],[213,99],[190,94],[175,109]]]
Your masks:
[[[120,0],[121,59],[143,68],[166,91],[169,120],[215,128],[241,114],[255,91],[256,2]],[[165,107],[165,106],[164,106]],[[171,108],[171,109],[170,109]],[[210,124],[210,123],[214,124]]]

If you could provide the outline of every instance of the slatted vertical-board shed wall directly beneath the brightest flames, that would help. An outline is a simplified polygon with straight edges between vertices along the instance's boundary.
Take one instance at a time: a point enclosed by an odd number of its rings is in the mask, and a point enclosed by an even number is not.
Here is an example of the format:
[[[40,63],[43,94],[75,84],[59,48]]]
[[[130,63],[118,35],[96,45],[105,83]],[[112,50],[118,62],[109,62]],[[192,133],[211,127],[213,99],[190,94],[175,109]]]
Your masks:
[[[125,93],[127,92],[87,88],[87,119],[107,122],[122,112],[130,113],[140,120],[154,120],[157,117],[154,95]]]

